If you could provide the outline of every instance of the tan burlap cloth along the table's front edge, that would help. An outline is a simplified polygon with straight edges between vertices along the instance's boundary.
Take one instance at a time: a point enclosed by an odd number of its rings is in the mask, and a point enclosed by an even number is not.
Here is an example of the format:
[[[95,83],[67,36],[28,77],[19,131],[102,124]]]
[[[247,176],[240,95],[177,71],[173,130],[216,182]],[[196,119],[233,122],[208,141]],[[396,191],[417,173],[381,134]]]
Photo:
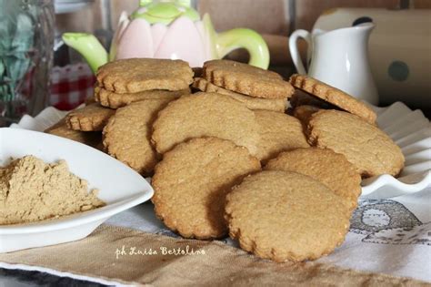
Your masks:
[[[276,263],[220,241],[178,240],[110,225],[81,241],[0,254],[0,261],[155,286],[431,285],[316,262]]]

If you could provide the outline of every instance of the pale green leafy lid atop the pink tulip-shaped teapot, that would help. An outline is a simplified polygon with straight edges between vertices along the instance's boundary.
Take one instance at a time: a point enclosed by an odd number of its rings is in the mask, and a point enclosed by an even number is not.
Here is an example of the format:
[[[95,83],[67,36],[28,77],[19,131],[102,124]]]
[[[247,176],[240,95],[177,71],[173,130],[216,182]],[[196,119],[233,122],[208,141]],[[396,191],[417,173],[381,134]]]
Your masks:
[[[192,21],[200,20],[200,15],[191,7],[191,0],[140,0],[139,8],[130,17],[144,18],[149,24],[169,25],[176,18],[185,16]]]

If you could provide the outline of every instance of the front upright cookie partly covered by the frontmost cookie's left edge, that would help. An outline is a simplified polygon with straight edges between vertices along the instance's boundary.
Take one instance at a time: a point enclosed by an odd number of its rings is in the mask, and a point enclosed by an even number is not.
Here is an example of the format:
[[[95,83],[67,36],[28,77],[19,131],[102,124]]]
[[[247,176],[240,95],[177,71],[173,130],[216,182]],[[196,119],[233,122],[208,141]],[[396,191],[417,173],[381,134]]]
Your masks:
[[[166,152],[155,167],[155,214],[184,237],[226,235],[226,193],[246,175],[260,170],[244,147],[221,138],[192,138]]]

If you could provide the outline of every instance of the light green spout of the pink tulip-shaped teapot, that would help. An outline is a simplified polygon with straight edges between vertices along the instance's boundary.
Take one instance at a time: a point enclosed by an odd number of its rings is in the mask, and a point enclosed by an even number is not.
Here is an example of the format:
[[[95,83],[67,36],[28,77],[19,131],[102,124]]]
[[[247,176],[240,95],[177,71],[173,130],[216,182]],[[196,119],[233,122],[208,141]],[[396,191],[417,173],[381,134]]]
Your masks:
[[[67,46],[73,47],[84,56],[93,73],[107,63],[108,54],[95,36],[87,33],[64,33],[62,38]]]

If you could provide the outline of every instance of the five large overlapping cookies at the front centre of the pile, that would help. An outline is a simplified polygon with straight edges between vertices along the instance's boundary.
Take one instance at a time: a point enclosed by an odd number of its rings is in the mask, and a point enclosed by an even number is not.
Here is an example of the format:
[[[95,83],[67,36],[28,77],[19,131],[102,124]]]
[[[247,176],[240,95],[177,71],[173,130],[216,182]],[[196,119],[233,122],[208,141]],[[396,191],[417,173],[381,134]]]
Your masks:
[[[344,241],[361,177],[345,156],[310,148],[298,119],[200,92],[158,113],[152,142],[163,154],[152,201],[172,231],[228,232],[276,261],[316,259]]]

